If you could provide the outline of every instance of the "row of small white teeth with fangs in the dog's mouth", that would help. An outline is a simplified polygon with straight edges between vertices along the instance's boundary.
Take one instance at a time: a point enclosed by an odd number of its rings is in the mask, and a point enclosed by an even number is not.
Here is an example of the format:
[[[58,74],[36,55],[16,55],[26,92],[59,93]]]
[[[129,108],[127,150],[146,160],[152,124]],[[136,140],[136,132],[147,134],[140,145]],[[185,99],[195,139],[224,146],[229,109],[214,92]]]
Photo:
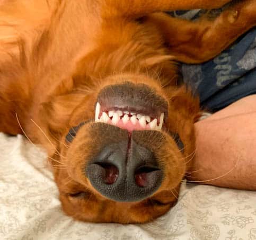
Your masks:
[[[99,119],[100,110],[101,110],[100,103],[97,103],[96,109],[95,109],[96,122],[108,123],[109,121],[112,121],[113,125],[117,125],[119,120],[121,120],[124,125],[126,125],[129,121],[131,121],[133,125],[136,125],[137,123],[139,123],[139,125],[143,128],[146,128],[146,126],[148,125],[149,128],[152,130],[161,130],[163,127],[164,113],[160,115],[160,123],[159,125],[157,125],[156,118],[151,121],[151,117],[149,116],[142,115],[142,114],[136,115],[136,113],[133,113],[133,112],[131,113],[128,111],[123,112],[121,110],[118,110],[118,111],[111,110],[108,112],[108,114],[107,112],[102,112],[101,118]],[[129,117],[129,115],[131,115],[131,117]]]

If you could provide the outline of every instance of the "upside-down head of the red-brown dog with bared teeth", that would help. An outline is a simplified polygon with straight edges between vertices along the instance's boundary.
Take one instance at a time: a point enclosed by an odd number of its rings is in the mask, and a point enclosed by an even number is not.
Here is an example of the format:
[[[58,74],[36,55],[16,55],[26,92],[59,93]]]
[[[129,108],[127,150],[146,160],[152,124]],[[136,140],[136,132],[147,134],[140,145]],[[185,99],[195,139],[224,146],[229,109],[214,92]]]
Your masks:
[[[51,160],[59,168],[64,211],[117,223],[163,215],[176,202],[194,155],[197,101],[184,88],[168,93],[156,79],[136,74],[108,76],[90,91]]]

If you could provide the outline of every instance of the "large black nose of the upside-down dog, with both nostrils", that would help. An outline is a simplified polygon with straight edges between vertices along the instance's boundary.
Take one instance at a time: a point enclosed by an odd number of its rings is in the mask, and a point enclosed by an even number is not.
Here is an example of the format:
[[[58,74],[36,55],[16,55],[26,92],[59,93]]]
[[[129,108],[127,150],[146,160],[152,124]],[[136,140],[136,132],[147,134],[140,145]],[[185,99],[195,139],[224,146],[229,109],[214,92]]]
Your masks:
[[[143,200],[162,182],[153,153],[132,138],[105,146],[87,165],[86,174],[97,191],[121,202]]]

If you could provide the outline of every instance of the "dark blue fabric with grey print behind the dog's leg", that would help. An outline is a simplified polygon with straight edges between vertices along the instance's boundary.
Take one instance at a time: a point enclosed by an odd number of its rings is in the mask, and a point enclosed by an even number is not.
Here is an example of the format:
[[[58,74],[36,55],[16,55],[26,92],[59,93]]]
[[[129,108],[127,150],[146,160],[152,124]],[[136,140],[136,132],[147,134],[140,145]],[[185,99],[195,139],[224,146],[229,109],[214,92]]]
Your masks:
[[[175,12],[193,19],[200,10]],[[182,65],[183,81],[200,96],[202,107],[218,111],[256,93],[256,28],[242,35],[219,56],[201,65]]]

